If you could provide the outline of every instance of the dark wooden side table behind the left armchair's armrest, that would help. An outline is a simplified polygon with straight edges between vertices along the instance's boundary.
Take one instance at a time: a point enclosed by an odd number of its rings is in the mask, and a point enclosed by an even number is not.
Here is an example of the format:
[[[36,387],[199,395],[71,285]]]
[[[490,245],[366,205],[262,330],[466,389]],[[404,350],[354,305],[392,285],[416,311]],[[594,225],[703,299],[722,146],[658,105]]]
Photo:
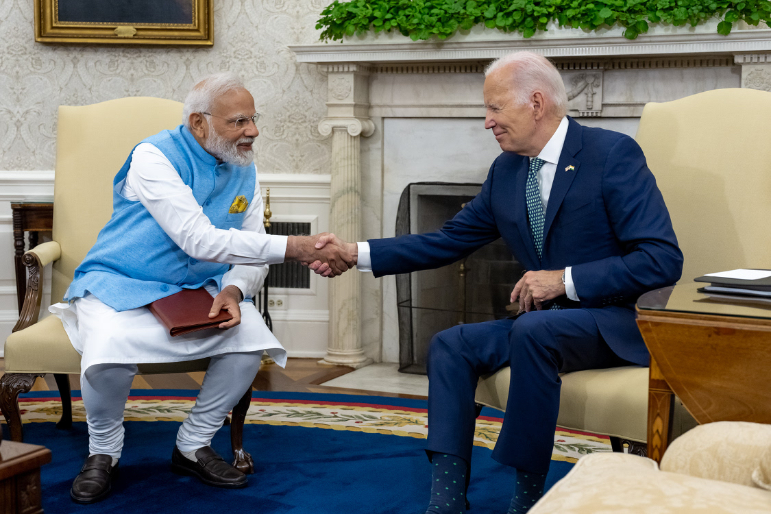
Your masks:
[[[13,217],[14,265],[16,270],[16,294],[19,312],[22,311],[24,295],[27,291],[27,270],[22,264],[25,252],[24,233],[29,232],[29,247],[38,244],[38,233],[49,231],[53,227],[53,203],[21,202],[11,203]]]

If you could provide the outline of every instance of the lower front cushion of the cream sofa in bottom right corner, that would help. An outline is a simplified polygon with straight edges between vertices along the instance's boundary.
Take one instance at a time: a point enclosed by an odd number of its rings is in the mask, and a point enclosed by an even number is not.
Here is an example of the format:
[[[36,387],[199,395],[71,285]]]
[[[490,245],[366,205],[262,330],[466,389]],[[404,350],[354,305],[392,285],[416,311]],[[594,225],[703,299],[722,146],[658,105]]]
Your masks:
[[[625,453],[581,458],[530,514],[760,514],[771,492],[746,485],[658,471],[656,463]]]

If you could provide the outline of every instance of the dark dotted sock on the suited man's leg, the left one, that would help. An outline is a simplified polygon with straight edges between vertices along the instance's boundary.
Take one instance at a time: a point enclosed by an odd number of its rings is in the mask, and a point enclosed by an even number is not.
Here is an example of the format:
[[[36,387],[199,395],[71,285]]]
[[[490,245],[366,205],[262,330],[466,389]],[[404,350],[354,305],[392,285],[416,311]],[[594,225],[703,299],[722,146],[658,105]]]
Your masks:
[[[426,514],[465,514],[466,461],[451,453],[436,452],[431,467],[431,501]]]

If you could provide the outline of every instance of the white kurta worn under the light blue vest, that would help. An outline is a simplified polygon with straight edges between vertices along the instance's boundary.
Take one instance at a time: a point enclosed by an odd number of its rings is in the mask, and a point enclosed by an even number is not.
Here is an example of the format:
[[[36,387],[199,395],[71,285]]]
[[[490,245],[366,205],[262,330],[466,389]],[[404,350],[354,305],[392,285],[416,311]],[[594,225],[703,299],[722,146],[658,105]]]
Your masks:
[[[234,285],[244,297],[258,294],[268,274],[265,264],[284,261],[287,237],[265,233],[257,180],[241,230],[215,228],[190,187],[150,143],[136,147],[126,180],[118,187],[123,187],[122,194],[128,200],[139,200],[190,257],[233,264],[222,278],[222,287]],[[213,297],[218,293],[216,286],[208,286],[207,291]],[[96,364],[190,361],[259,350],[266,351],[278,365],[286,365],[284,347],[251,301],[241,302],[241,324],[234,328],[212,328],[174,338],[146,307],[118,312],[93,294],[70,304],[52,305],[49,311],[62,320],[72,346],[82,355],[82,371]]]

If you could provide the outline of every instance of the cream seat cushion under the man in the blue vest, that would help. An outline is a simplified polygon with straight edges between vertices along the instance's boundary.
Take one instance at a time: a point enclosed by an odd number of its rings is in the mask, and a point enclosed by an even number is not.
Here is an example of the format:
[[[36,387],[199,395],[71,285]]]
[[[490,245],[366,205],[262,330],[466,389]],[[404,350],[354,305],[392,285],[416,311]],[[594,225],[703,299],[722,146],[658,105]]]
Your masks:
[[[142,364],[140,374],[206,371],[209,359]],[[69,342],[59,317],[48,316],[5,340],[6,373],[80,374],[80,354]]]

